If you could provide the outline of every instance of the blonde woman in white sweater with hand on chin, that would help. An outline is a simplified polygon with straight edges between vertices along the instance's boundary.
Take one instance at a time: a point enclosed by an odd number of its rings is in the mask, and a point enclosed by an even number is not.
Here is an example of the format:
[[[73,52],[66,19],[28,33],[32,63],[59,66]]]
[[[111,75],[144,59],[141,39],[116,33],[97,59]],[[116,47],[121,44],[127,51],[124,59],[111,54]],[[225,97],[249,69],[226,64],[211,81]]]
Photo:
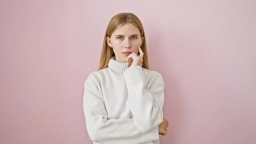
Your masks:
[[[163,118],[162,76],[148,70],[147,46],[135,14],[112,17],[103,41],[99,70],[84,83],[84,113],[93,143],[159,143]]]

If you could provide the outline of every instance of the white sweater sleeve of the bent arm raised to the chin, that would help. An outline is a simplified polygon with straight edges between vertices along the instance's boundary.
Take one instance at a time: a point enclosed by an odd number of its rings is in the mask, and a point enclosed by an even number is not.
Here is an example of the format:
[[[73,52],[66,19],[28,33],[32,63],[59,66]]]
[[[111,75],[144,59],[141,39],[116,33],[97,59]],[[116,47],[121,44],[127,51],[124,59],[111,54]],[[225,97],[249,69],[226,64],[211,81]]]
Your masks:
[[[127,68],[124,79],[134,124],[142,133],[150,131],[163,121],[163,78],[156,71],[151,71],[146,82],[141,66],[134,66]]]

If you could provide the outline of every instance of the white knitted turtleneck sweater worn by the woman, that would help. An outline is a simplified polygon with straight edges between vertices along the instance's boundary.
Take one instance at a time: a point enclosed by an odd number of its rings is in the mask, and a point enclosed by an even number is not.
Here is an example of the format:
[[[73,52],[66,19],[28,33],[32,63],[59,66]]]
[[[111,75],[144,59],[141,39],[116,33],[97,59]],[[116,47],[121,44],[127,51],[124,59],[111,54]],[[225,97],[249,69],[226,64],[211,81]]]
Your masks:
[[[84,114],[93,143],[159,144],[163,121],[162,76],[141,66],[127,68],[112,57],[84,83]]]

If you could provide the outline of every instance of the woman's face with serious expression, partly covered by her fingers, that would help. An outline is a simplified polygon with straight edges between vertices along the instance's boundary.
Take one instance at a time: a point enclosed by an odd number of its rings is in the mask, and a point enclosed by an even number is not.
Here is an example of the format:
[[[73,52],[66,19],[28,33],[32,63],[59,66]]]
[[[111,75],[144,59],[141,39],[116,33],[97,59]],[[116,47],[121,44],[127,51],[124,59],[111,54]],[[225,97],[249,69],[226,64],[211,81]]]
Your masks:
[[[114,50],[115,60],[126,62],[130,53],[138,53],[138,47],[143,43],[144,37],[141,37],[139,29],[132,23],[126,23],[113,32],[111,37],[107,37],[106,41]]]

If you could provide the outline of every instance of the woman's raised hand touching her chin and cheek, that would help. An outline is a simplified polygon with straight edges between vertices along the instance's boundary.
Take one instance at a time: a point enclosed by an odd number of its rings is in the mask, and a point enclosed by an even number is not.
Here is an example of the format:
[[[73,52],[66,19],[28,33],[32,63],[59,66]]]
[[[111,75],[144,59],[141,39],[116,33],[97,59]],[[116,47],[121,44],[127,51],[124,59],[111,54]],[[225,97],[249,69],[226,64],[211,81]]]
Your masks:
[[[127,67],[133,67],[135,65],[142,65],[144,53],[142,52],[140,46],[138,47],[138,49],[139,49],[139,56],[134,52],[131,53],[129,56],[127,56],[127,58],[126,58]]]

